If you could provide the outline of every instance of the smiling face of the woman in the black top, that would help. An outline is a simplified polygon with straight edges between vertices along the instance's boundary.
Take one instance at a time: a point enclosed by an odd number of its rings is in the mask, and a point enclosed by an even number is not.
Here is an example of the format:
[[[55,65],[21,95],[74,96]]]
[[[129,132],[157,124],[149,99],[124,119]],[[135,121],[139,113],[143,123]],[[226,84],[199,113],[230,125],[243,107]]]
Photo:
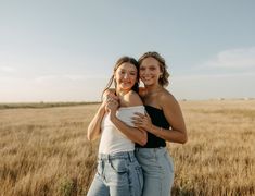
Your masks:
[[[160,62],[156,59],[149,57],[140,64],[139,76],[145,86],[158,84],[161,75]]]

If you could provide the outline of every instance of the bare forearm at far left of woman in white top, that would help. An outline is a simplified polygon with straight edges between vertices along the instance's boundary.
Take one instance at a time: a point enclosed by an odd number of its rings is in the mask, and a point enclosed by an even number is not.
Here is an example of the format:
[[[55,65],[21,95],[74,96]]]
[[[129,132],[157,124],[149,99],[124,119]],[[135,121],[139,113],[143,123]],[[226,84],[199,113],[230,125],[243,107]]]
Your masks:
[[[103,102],[89,123],[87,137],[89,140],[94,140],[101,134],[101,122],[105,113],[105,103]]]

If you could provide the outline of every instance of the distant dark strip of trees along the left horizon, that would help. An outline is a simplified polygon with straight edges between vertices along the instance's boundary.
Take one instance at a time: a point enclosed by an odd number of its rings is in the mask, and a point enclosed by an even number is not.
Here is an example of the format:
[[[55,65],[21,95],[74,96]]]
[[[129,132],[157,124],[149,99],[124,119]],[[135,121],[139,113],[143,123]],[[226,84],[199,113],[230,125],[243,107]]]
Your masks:
[[[1,109],[17,109],[17,108],[52,108],[52,107],[71,107],[80,105],[97,105],[98,101],[91,102],[13,102],[13,103],[0,103]]]

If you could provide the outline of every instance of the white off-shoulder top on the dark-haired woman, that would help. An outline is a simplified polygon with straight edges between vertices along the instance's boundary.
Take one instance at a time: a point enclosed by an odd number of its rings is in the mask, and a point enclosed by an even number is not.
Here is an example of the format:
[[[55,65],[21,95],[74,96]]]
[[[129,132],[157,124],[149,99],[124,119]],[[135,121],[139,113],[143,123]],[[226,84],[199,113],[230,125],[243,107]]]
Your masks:
[[[135,112],[143,113],[145,109],[143,106],[119,108],[116,117],[129,126],[133,127],[131,118]],[[120,151],[135,150],[135,143],[127,138],[110,120],[110,114],[106,113],[101,123],[101,140],[99,145],[99,154],[115,154]]]

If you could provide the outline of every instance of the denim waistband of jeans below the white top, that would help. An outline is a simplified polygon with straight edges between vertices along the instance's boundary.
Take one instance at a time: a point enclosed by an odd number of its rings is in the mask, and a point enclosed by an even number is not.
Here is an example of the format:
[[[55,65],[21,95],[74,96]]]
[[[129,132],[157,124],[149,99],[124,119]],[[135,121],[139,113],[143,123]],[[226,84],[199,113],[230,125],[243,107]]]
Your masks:
[[[129,159],[131,162],[136,160],[133,151],[122,151],[116,154],[99,154],[99,160]]]

